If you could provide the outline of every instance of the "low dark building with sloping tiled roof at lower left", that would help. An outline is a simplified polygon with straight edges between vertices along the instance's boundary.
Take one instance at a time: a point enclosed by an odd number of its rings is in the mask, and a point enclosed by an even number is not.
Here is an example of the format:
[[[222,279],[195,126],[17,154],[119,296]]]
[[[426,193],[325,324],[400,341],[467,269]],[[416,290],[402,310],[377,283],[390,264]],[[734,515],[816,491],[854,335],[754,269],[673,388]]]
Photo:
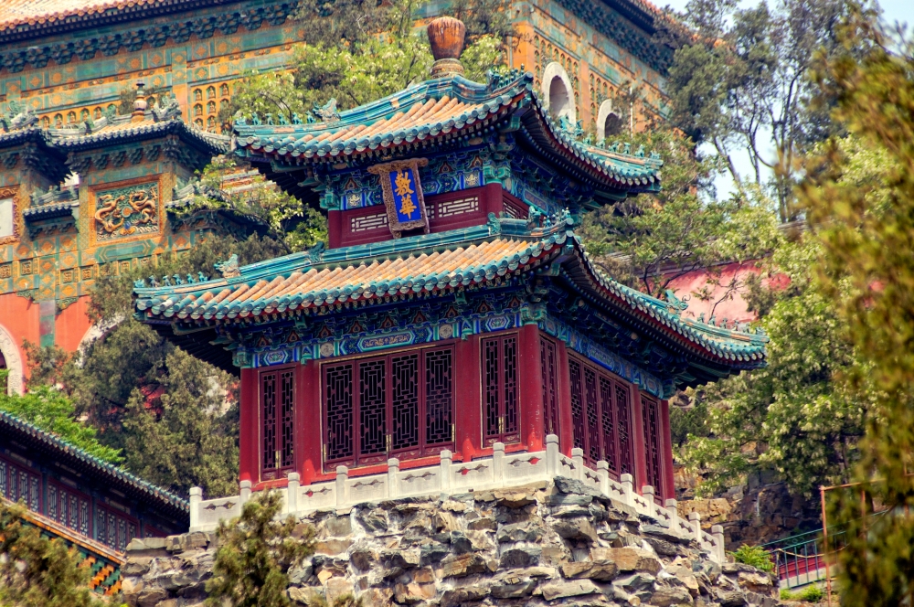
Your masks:
[[[133,538],[187,530],[188,504],[54,434],[0,411],[0,498],[21,502],[43,535],[75,546],[90,586],[121,589],[124,548]]]

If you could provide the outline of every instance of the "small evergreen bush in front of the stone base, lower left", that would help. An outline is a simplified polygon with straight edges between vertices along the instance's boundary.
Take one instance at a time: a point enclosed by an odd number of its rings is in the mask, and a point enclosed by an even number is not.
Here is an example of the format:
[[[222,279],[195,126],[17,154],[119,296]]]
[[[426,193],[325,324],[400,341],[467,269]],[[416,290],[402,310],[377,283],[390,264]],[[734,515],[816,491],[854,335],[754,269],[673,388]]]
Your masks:
[[[288,571],[314,554],[314,527],[282,521],[282,496],[263,491],[244,505],[241,516],[219,523],[219,548],[207,602],[222,607],[287,607]]]

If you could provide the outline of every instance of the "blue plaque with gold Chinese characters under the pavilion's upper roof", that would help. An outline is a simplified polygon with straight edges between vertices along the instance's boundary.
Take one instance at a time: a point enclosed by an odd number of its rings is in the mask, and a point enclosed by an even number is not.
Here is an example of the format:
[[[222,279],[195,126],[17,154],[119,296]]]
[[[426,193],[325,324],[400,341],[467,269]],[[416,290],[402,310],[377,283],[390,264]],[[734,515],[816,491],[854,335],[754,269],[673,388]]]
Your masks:
[[[419,180],[419,167],[429,164],[427,158],[410,158],[368,167],[381,182],[384,206],[388,212],[390,233],[399,239],[402,232],[421,228],[429,233],[429,218]]]

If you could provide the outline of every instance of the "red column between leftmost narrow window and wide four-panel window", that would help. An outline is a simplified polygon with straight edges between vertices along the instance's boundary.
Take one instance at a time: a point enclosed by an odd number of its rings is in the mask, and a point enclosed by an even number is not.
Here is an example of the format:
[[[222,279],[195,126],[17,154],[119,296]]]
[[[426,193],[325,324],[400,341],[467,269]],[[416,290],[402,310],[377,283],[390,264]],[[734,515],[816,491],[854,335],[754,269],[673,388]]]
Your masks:
[[[299,366],[299,389],[295,403],[295,442],[298,453],[295,468],[302,485],[311,485],[322,470],[324,446],[321,434],[321,366],[314,360]]]

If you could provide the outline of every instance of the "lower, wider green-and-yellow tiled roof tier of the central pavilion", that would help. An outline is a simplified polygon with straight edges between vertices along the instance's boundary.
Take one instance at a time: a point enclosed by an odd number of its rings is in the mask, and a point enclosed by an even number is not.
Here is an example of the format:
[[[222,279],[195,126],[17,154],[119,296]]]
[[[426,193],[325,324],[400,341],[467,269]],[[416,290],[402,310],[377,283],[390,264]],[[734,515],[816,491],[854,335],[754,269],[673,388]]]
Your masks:
[[[545,268],[561,272],[595,304],[652,327],[701,357],[725,366],[763,364],[767,337],[684,318],[674,304],[626,287],[590,262],[570,219],[529,231],[517,219],[441,234],[296,253],[239,269],[235,278],[177,286],[139,286],[137,316],[187,325],[269,320],[271,314],[345,302],[382,303],[391,295],[442,293],[496,277]]]

